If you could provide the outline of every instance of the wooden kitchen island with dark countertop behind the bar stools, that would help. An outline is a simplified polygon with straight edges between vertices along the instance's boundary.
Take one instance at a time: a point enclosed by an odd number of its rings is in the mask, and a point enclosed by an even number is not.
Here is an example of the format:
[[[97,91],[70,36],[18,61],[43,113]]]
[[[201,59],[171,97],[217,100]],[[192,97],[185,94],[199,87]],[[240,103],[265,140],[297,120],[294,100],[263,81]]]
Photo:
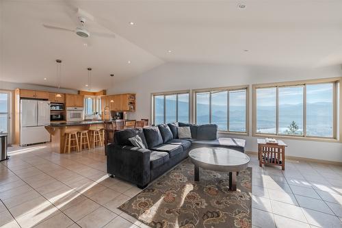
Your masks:
[[[51,123],[45,126],[51,135],[51,149],[55,153],[64,153],[64,136],[70,131],[103,129],[103,121],[81,121],[73,123]]]

